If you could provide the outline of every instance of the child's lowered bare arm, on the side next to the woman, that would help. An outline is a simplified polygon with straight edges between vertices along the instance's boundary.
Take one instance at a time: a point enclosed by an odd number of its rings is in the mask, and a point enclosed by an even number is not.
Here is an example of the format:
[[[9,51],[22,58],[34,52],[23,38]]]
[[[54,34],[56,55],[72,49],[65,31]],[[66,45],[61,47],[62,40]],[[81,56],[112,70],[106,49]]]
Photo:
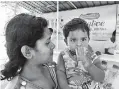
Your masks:
[[[58,57],[58,64],[57,64],[57,78],[58,83],[61,89],[70,89],[67,83],[66,74],[65,74],[65,65],[63,60],[63,53],[61,52]]]

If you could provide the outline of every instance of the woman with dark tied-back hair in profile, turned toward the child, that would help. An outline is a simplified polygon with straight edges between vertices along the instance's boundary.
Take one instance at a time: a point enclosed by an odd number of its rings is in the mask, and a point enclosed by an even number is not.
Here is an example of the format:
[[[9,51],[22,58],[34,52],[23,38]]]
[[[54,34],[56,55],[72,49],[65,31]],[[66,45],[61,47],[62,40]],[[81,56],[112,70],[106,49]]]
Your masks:
[[[1,80],[10,80],[5,89],[57,89],[55,45],[46,19],[28,14],[12,18],[6,27],[9,62]]]

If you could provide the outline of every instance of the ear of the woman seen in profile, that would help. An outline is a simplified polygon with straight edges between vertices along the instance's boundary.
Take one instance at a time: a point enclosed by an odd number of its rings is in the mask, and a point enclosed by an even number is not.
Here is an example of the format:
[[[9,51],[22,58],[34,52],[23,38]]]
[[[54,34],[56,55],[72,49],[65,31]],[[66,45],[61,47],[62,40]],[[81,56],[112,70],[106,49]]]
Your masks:
[[[32,49],[31,49],[31,47],[29,47],[27,45],[24,45],[21,47],[21,53],[27,59],[32,59],[32,57],[33,57]]]

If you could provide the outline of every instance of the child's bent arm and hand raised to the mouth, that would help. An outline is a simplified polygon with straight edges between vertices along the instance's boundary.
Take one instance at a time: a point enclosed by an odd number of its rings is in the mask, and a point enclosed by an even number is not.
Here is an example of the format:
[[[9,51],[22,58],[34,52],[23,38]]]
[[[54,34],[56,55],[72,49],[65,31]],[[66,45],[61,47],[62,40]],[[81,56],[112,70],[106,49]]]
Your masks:
[[[88,52],[84,54],[82,47],[76,50],[78,60],[83,62],[84,68],[88,71],[93,80],[102,82],[105,77],[105,73],[100,67],[92,63],[92,51],[88,49]]]

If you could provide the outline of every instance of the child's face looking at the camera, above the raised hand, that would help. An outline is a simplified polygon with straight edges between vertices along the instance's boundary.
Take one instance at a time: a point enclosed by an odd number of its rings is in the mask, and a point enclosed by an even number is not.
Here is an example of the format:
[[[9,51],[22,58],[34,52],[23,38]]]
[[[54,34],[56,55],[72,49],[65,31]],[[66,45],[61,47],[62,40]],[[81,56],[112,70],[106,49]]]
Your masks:
[[[72,51],[75,51],[77,46],[88,47],[88,34],[87,32],[83,32],[82,30],[78,29],[75,31],[70,31],[67,37],[67,46]]]

